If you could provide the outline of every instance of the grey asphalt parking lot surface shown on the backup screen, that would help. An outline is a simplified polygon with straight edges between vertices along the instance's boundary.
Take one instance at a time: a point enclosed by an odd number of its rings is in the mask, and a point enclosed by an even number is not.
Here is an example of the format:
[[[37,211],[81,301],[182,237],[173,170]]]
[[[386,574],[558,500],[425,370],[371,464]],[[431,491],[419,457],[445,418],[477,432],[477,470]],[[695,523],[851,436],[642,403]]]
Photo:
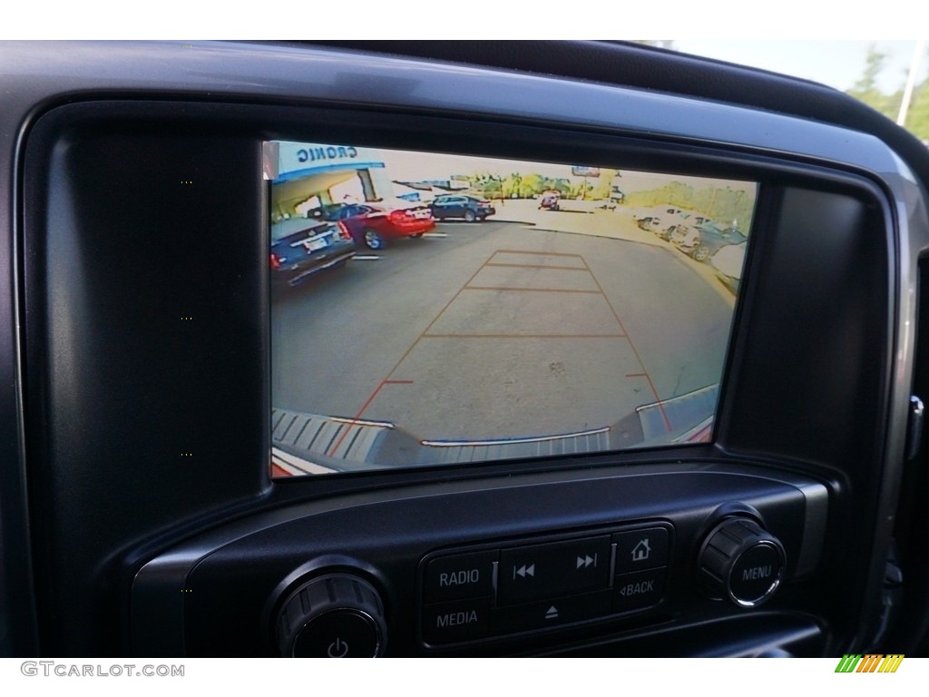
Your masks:
[[[719,381],[733,298],[712,270],[622,211],[531,204],[275,296],[274,406],[492,440],[607,427]]]

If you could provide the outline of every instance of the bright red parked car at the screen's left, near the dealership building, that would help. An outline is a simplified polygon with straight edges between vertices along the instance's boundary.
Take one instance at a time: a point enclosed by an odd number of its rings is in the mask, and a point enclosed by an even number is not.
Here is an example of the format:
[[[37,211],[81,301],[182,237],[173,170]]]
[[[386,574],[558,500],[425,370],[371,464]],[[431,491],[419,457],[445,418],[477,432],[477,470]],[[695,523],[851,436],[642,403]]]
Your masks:
[[[428,206],[386,208],[372,204],[345,204],[325,209],[327,220],[342,221],[356,244],[382,249],[387,240],[420,237],[436,227]]]

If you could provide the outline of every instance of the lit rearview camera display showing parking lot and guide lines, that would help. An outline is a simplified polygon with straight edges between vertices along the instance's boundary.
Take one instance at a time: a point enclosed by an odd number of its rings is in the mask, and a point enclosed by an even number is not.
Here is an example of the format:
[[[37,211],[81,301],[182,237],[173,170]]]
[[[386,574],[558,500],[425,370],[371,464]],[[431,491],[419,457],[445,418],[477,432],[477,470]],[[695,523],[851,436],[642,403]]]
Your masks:
[[[271,471],[710,441],[754,182],[265,144]]]

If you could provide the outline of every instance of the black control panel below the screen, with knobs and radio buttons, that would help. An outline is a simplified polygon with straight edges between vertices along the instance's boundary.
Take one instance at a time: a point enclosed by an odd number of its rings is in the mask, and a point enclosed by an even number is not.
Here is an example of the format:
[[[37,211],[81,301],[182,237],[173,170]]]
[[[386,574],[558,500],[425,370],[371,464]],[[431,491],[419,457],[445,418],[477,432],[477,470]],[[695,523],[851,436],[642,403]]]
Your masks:
[[[752,614],[761,631],[822,591],[823,483],[732,466],[554,480],[357,493],[217,529],[137,573],[132,651],[538,653]],[[726,566],[742,529],[766,536]]]

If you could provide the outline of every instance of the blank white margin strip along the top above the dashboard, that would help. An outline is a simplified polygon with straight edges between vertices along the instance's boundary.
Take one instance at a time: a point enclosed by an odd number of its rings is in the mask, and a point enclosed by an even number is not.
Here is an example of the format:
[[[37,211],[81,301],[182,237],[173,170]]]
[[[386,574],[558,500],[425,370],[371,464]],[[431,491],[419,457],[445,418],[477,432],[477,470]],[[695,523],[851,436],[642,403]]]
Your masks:
[[[845,4],[779,0],[584,0],[554,11],[525,3],[486,3],[465,11],[474,21],[439,21],[435,0],[338,4],[275,0],[270,4],[159,0],[140,9],[125,0],[11,0],[3,39],[699,39],[726,44],[778,39],[916,39],[929,33],[929,3],[872,0]],[[217,9],[221,8],[221,9]],[[542,7],[540,6],[541,10]]]

